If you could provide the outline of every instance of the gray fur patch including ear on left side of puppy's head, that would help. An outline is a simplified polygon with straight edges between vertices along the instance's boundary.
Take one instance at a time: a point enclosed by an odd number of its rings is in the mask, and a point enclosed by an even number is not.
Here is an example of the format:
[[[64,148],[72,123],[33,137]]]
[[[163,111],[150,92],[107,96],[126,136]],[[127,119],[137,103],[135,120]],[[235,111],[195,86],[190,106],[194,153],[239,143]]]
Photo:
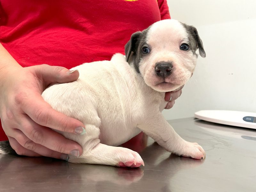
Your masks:
[[[137,73],[140,73],[139,63],[143,55],[141,52],[142,46],[146,44],[147,34],[150,26],[143,30],[142,32],[138,31],[132,34],[130,41],[125,44],[125,57],[126,61],[134,66]]]

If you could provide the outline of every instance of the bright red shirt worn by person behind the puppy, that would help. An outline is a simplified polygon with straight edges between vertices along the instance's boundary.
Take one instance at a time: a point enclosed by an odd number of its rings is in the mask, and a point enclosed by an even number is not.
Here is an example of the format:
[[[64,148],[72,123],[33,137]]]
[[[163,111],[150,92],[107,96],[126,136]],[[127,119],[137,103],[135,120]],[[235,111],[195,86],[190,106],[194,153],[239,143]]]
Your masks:
[[[1,0],[0,43],[22,67],[72,68],[124,54],[132,33],[163,19],[166,0]]]

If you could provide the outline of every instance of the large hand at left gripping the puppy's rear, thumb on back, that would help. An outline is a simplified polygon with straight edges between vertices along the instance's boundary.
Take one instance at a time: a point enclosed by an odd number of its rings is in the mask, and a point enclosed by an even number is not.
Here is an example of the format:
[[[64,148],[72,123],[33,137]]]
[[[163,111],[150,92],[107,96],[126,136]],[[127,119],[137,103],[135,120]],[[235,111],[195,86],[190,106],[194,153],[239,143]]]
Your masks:
[[[52,129],[84,134],[84,124],[52,109],[41,97],[50,84],[75,81],[79,72],[49,65],[6,66],[0,72],[0,117],[16,153],[65,160],[67,154],[80,156],[83,149],[79,144]]]

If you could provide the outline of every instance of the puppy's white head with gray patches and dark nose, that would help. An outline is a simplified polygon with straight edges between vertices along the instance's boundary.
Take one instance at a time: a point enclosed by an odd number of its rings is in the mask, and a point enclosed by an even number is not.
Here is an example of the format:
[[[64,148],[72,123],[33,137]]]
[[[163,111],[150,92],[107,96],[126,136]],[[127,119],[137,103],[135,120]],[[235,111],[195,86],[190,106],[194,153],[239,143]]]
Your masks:
[[[125,45],[125,55],[148,86],[168,92],[184,85],[192,76],[197,49],[205,57],[196,28],[172,19],[158,21],[132,34]]]

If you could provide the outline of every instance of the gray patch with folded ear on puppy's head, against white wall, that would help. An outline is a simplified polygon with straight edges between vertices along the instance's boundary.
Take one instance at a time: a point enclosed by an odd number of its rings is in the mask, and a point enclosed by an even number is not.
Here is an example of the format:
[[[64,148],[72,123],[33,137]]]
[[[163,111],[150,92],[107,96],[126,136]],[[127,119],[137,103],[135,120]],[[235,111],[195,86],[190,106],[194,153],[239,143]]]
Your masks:
[[[192,50],[192,52],[196,54],[196,50],[199,49],[199,54],[201,57],[206,57],[204,46],[201,38],[198,35],[197,29],[194,26],[187,25],[185,23],[180,22],[181,25],[187,30],[188,32],[188,39],[189,39],[189,47]]]

